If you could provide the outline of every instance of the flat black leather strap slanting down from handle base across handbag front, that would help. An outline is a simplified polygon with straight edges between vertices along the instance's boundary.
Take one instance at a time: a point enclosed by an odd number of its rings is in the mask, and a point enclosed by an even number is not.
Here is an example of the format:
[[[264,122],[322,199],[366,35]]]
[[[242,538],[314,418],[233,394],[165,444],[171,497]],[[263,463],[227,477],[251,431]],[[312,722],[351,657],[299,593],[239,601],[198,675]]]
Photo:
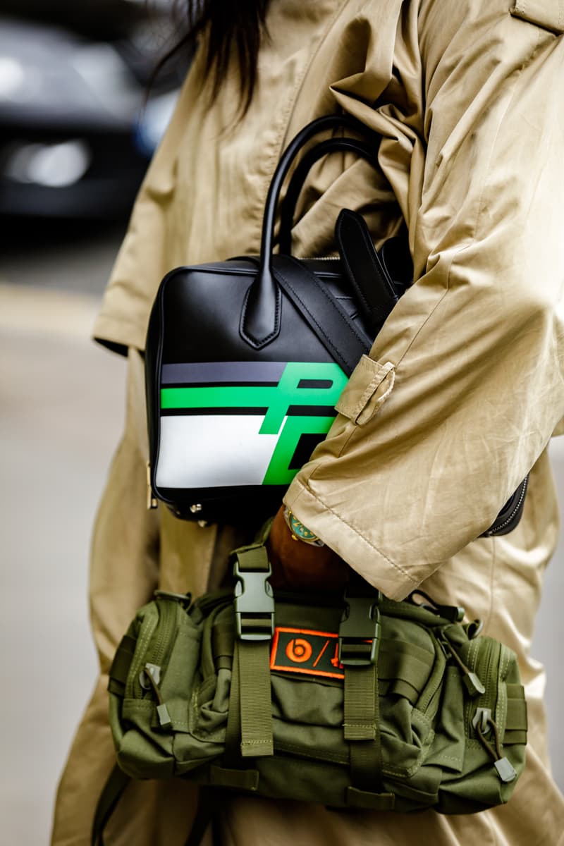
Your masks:
[[[272,273],[331,357],[350,376],[370,350],[370,338],[356,327],[315,273],[290,255],[272,256]],[[337,347],[338,338],[338,347]]]

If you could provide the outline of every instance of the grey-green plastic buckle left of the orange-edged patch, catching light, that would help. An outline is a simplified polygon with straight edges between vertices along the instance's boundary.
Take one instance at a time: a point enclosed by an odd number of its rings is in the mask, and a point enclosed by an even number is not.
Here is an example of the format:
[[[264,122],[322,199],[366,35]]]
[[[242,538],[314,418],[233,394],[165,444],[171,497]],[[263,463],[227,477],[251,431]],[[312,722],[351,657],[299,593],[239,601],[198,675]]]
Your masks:
[[[271,640],[274,634],[274,596],[268,570],[242,570],[235,558],[235,626],[239,640]]]

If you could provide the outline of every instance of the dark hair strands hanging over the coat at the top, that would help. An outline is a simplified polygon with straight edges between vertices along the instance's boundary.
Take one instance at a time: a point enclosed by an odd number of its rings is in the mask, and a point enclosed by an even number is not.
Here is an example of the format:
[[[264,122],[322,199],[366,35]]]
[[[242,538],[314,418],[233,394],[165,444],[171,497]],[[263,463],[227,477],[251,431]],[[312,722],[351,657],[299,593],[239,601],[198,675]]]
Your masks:
[[[267,36],[266,9],[270,0],[176,0],[175,14],[186,23],[186,33],[163,59],[185,49],[194,52],[205,34],[205,74],[211,81],[213,102],[233,51],[237,52],[241,115],[249,108],[257,77],[260,40]]]

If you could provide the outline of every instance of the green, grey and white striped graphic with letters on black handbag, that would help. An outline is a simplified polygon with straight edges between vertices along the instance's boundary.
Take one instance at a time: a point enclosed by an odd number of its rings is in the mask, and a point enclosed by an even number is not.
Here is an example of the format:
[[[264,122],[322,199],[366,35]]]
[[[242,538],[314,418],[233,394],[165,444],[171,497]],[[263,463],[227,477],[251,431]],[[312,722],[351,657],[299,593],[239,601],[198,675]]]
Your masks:
[[[347,383],[333,362],[165,367],[156,474],[166,487],[289,484]]]

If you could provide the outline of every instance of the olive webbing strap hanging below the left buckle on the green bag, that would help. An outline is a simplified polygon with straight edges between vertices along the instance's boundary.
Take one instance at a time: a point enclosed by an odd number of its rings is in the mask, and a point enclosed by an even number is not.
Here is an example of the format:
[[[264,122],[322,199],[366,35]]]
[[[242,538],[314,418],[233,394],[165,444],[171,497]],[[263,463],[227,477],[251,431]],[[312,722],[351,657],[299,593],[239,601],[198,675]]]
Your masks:
[[[241,755],[274,755],[270,640],[237,640]]]

